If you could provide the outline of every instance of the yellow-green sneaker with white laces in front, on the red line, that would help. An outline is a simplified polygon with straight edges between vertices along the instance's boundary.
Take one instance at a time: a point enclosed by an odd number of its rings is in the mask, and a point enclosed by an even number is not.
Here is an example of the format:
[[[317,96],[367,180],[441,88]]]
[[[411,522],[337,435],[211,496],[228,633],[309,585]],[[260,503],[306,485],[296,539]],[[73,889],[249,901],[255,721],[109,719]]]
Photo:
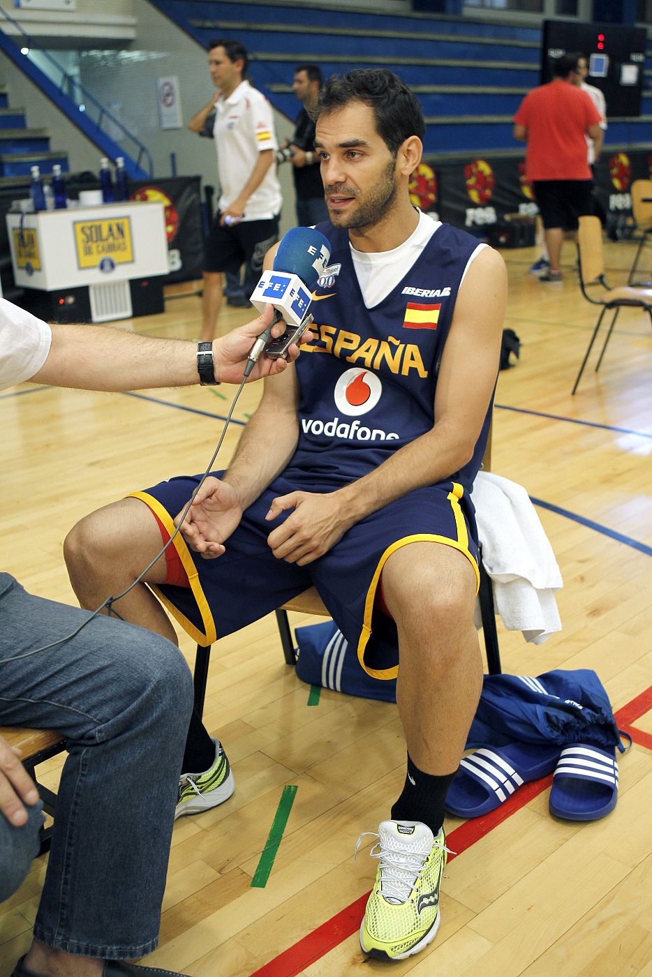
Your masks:
[[[446,836],[440,828],[435,837],[420,821],[383,821],[376,836],[369,854],[379,865],[360,927],[360,946],[366,956],[402,960],[437,935]]]

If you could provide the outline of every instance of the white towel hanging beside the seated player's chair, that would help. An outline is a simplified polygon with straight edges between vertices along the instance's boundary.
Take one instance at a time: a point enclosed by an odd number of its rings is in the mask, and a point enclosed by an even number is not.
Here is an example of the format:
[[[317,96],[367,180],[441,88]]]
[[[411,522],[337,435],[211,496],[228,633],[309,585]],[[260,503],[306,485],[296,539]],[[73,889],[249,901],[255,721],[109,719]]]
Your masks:
[[[554,593],[563,581],[535,507],[523,486],[493,472],[476,476],[473,504],[502,623],[540,645],[561,630]],[[477,604],[475,624],[481,626]]]

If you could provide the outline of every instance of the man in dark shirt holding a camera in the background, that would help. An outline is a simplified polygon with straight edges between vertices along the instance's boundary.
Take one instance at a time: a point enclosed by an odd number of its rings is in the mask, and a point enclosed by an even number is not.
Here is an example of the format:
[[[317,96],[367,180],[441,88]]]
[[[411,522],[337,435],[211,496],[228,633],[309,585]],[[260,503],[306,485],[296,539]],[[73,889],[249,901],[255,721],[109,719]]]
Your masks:
[[[296,117],[294,135],[289,147],[282,149],[277,162],[290,159],[296,191],[296,220],[300,227],[312,227],[326,221],[328,212],[324,184],[315,146],[315,123],[309,112],[317,106],[324,78],[317,64],[299,64],[294,72],[292,91],[303,108]]]

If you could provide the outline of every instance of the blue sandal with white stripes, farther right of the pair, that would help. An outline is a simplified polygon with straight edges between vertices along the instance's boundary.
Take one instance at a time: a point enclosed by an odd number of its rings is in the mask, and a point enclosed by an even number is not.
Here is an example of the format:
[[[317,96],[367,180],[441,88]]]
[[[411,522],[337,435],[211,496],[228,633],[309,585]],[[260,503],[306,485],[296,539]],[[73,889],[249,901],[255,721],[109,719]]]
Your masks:
[[[567,821],[596,821],[616,807],[616,747],[591,743],[565,746],[550,790],[550,814]]]

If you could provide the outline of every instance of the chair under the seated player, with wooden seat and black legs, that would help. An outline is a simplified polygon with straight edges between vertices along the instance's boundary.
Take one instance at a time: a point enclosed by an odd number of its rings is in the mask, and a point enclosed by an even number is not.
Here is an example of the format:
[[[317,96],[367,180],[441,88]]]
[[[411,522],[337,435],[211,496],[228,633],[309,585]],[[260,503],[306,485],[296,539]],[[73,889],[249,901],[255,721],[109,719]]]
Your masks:
[[[487,446],[482,459],[482,466],[486,471],[491,470],[492,458],[492,426],[489,428]],[[485,652],[487,655],[487,666],[490,675],[500,674],[500,648],[498,630],[496,628],[496,609],[494,607],[494,589],[491,578],[482,563],[482,546],[480,547],[480,589],[478,591],[480,602],[480,613],[482,616],[482,633],[485,641]],[[294,640],[287,617],[288,611],[298,614],[315,615],[329,617],[326,606],[318,594],[315,587],[309,587],[303,593],[297,594],[291,600],[286,601],[275,613],[277,624],[279,625],[279,635],[283,647],[283,658],[286,664],[294,667],[296,658],[294,656]],[[208,665],[210,662],[210,645],[203,647],[197,645],[195,657],[195,704],[199,715],[203,712],[203,702],[206,695],[206,682],[208,679]]]

